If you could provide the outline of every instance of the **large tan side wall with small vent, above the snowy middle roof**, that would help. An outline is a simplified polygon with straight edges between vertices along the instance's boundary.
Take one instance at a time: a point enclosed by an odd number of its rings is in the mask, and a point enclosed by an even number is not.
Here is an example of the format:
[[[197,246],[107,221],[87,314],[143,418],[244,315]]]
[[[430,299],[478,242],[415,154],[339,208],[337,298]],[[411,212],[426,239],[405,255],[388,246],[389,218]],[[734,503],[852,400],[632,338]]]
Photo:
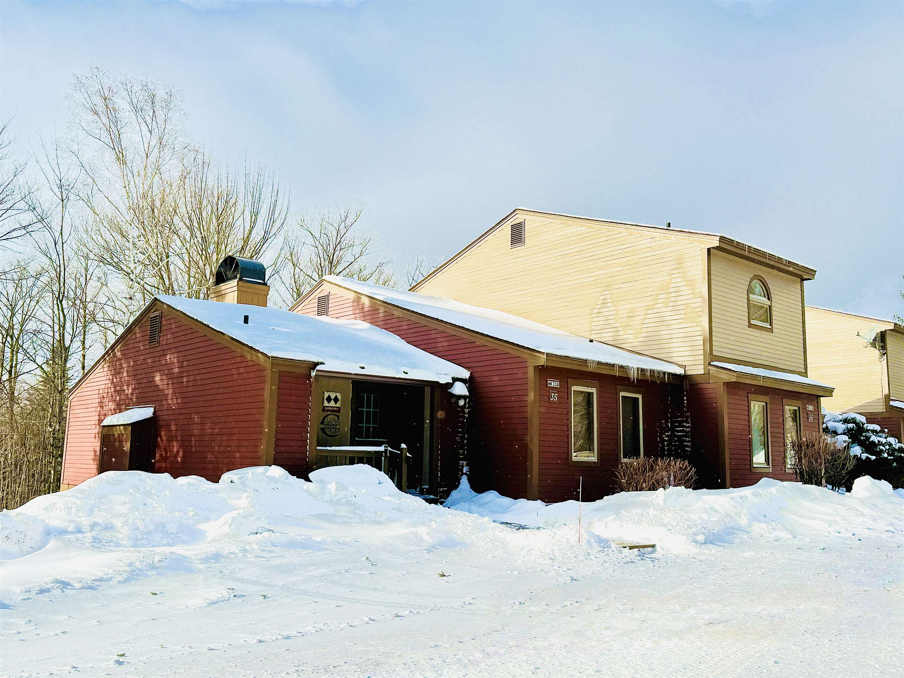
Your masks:
[[[521,221],[515,215],[512,221]],[[704,244],[660,231],[528,215],[419,285],[451,297],[703,370]]]

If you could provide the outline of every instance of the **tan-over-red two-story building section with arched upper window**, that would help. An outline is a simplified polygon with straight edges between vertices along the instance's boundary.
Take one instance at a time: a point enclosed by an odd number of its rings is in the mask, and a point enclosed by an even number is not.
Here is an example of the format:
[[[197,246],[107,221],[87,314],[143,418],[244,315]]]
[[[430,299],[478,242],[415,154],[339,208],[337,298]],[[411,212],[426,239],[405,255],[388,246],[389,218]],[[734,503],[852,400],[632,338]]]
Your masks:
[[[412,291],[683,364],[710,486],[793,479],[786,442],[820,429],[804,282],[815,270],[698,231],[517,209]]]

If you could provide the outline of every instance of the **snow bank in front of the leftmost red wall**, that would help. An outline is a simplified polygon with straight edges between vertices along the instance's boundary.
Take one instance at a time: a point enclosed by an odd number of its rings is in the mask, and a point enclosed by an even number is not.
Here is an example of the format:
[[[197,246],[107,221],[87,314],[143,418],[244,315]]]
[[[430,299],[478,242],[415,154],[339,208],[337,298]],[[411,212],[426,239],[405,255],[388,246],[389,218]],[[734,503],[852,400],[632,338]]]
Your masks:
[[[104,473],[0,513],[0,560],[38,551],[55,537],[89,548],[147,548],[300,527],[334,511],[307,491],[311,486],[279,466],[232,471],[219,484],[197,476]]]

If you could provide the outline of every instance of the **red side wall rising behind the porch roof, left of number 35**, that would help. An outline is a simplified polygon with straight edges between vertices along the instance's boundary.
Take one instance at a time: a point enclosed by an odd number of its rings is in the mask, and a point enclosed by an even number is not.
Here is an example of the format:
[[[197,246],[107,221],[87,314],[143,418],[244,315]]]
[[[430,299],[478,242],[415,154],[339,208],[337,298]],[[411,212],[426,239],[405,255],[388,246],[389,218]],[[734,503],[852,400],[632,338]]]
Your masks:
[[[297,312],[316,315],[317,296],[311,295]],[[493,489],[507,496],[527,494],[527,361],[452,332],[365,306],[336,291],[330,292],[329,309],[331,317],[371,323],[470,370],[470,416],[474,420],[468,436],[469,480],[477,492]]]

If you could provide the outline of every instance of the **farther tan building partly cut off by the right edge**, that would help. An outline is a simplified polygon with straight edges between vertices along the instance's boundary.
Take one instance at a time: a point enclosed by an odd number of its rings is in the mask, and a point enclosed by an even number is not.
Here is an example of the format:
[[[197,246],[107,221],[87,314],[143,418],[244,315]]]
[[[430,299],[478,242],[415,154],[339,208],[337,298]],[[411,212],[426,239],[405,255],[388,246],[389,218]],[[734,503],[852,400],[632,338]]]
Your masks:
[[[806,307],[810,374],[835,387],[830,412],[856,412],[904,440],[904,325]]]

